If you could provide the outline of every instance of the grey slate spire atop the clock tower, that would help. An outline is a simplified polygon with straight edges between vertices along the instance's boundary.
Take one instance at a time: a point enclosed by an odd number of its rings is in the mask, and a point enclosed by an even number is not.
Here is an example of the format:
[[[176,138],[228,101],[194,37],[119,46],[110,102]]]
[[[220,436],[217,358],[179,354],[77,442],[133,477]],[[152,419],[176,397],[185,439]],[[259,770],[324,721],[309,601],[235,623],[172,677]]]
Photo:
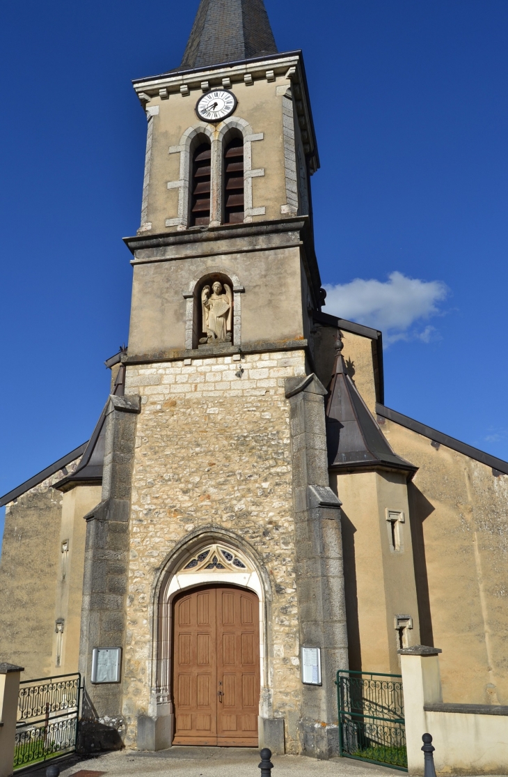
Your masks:
[[[201,0],[180,68],[276,53],[263,0]]]

